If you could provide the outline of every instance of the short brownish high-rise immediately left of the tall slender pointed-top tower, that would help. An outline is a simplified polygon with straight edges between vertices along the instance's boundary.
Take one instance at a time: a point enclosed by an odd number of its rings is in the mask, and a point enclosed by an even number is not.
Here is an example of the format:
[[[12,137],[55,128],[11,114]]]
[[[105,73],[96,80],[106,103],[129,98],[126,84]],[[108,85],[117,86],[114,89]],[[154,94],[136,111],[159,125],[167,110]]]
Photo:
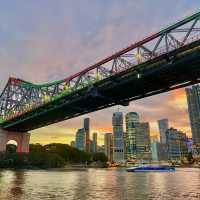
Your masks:
[[[113,157],[113,135],[112,135],[112,133],[105,133],[104,147],[105,147],[105,155],[108,157],[108,161],[112,162],[112,157]]]

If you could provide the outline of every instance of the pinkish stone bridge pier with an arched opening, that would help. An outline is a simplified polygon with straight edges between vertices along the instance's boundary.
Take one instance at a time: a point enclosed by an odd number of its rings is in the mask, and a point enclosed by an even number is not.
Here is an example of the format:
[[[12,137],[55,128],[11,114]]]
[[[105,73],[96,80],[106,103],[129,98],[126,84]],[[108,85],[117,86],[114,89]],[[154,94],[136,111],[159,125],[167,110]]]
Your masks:
[[[6,151],[6,144],[10,140],[17,142],[18,153],[29,153],[30,133],[7,131],[0,128],[0,152]]]

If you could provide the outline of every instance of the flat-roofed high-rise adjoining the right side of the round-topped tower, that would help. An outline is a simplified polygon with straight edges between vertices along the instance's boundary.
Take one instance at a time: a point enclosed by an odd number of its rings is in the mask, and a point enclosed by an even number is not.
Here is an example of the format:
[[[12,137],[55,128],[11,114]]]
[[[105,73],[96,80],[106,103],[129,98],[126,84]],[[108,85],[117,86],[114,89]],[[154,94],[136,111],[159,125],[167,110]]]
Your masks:
[[[151,159],[150,126],[148,122],[136,124],[136,157],[137,159]]]

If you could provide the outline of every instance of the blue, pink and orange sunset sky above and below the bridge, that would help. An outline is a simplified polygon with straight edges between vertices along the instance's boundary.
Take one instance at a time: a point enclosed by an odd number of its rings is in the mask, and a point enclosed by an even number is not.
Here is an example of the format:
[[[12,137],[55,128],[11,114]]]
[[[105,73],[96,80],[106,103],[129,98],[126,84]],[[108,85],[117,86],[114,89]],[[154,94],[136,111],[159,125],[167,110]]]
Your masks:
[[[199,0],[0,0],[0,91],[9,76],[33,83],[66,78],[165,26],[197,12]],[[135,111],[191,134],[184,89],[90,113],[31,133],[31,143],[70,143],[91,118],[92,132],[112,132],[112,113]]]

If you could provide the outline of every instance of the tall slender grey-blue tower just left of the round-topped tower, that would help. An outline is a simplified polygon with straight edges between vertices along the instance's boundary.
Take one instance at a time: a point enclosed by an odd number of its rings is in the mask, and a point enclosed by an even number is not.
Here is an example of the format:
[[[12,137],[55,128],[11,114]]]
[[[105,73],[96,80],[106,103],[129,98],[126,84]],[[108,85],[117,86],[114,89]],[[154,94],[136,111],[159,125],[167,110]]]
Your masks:
[[[124,131],[123,114],[121,112],[113,113],[113,160],[115,162],[124,162]]]

